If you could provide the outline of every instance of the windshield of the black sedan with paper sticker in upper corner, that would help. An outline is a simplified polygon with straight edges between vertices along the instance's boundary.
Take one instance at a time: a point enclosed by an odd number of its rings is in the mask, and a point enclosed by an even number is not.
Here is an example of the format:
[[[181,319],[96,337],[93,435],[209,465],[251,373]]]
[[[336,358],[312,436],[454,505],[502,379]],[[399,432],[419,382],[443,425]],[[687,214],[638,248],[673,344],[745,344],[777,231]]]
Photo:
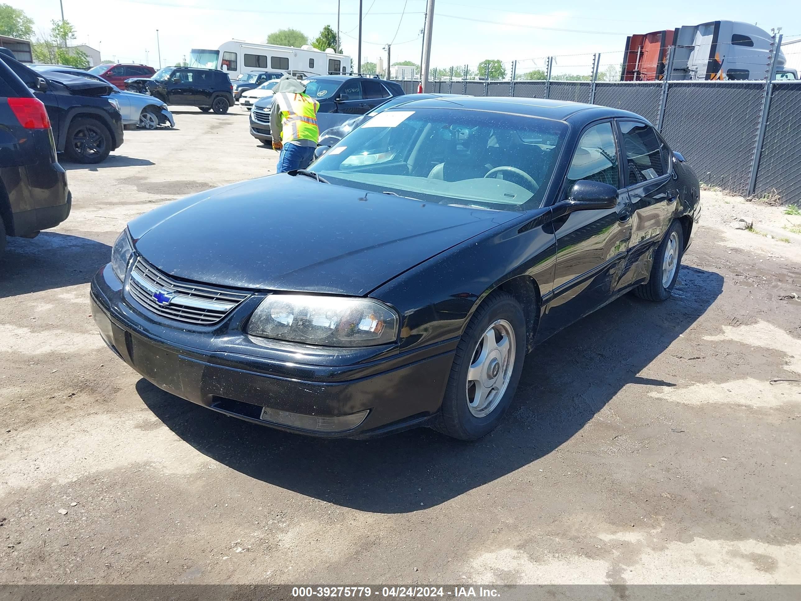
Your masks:
[[[566,132],[550,119],[400,107],[357,127],[311,168],[341,186],[527,211],[541,204]]]

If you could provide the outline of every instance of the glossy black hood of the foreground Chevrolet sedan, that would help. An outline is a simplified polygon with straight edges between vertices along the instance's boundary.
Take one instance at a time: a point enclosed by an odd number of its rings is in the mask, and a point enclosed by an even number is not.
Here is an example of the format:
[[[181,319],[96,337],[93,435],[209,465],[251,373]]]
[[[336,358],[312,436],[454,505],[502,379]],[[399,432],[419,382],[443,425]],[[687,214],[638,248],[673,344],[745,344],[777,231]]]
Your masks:
[[[171,276],[362,296],[515,215],[281,174],[178,200],[129,230],[137,252]]]

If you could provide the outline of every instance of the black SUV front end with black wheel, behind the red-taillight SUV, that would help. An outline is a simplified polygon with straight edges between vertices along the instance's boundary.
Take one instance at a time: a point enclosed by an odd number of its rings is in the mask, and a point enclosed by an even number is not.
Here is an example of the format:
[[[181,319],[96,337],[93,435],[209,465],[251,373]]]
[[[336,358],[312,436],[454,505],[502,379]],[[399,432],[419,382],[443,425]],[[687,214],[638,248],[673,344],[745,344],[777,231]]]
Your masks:
[[[76,163],[99,163],[122,145],[119,105],[103,98],[111,86],[65,73],[37,73],[4,53],[0,60],[44,103],[58,152]]]

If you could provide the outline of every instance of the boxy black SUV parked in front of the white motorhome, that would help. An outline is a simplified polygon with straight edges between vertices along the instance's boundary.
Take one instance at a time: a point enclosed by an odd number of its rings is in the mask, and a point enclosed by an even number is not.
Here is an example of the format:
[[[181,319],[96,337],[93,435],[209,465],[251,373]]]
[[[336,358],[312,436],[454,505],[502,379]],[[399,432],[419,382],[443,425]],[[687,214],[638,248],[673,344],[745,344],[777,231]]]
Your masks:
[[[217,115],[234,106],[231,80],[219,69],[164,67],[149,79],[127,79],[125,89],[150,94],[167,104],[211,109]]]

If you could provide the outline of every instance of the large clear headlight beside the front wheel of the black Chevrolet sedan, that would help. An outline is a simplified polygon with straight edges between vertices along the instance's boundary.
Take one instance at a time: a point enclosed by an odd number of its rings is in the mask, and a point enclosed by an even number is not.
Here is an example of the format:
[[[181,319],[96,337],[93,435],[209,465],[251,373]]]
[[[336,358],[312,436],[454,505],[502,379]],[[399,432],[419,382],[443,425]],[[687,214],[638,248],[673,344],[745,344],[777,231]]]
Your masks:
[[[378,300],[272,294],[253,313],[248,333],[310,345],[385,345],[396,340],[398,321]]]

